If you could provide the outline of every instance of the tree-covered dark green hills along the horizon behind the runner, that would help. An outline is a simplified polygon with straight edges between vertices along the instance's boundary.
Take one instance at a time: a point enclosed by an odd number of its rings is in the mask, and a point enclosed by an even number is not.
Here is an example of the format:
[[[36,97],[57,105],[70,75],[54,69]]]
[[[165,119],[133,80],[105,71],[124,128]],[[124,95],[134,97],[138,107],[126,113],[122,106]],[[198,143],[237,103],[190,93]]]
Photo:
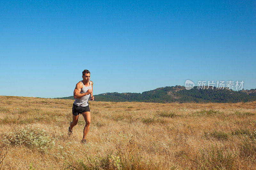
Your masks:
[[[233,103],[247,102],[256,100],[256,89],[233,91],[228,88],[218,89],[212,87],[209,89],[193,89],[186,90],[184,86],[166,86],[142,93],[118,93],[108,92],[94,95],[96,101],[139,101],[139,102],[218,102]],[[57,99],[74,99],[73,96],[57,98]]]

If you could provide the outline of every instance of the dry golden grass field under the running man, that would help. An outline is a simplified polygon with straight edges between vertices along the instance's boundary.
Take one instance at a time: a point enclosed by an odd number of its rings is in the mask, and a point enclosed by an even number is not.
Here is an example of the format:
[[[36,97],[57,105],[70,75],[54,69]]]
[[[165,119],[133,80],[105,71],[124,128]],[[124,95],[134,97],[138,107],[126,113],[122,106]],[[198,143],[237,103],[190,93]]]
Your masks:
[[[256,102],[89,101],[86,144],[73,102],[0,96],[1,168],[256,169]]]

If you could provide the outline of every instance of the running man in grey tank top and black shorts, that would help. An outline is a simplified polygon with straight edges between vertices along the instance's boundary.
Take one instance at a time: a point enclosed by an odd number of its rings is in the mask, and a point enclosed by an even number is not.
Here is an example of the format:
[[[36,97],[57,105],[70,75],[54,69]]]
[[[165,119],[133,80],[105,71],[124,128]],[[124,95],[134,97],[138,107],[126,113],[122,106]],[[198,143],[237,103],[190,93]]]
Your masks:
[[[72,134],[72,129],[74,126],[76,126],[78,122],[78,116],[79,114],[82,114],[84,116],[85,120],[85,126],[84,126],[84,136],[82,139],[82,143],[86,143],[86,136],[87,133],[90,129],[90,124],[91,124],[91,112],[89,108],[89,97],[91,95],[90,100],[94,100],[94,97],[92,95],[92,85],[93,82],[90,81],[90,71],[89,70],[84,70],[83,72],[83,80],[79,81],[76,84],[76,88],[74,90],[74,98],[76,99],[75,102],[73,103],[73,108],[72,108],[72,113],[73,113],[73,121],[70,122],[70,126],[68,128],[68,134]]]

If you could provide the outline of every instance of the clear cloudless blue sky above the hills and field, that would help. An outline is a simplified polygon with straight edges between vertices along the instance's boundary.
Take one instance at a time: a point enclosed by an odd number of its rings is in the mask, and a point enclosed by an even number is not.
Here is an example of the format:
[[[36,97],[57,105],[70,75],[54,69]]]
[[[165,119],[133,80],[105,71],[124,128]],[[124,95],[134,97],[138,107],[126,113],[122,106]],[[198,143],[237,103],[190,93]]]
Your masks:
[[[256,1],[0,1],[0,95],[144,92],[190,79],[256,88]]]

